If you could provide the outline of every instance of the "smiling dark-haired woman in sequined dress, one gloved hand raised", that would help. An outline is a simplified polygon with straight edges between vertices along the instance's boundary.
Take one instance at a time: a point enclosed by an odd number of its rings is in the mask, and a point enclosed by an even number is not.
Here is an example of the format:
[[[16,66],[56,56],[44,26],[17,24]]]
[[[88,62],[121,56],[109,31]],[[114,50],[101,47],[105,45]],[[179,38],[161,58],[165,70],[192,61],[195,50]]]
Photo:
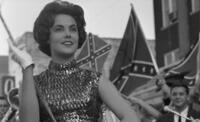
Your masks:
[[[139,121],[108,79],[76,65],[74,54],[86,38],[80,6],[66,1],[47,4],[33,33],[39,49],[52,59],[37,76],[33,76],[32,58],[9,43],[23,67],[21,122],[97,122],[102,102],[122,122]]]

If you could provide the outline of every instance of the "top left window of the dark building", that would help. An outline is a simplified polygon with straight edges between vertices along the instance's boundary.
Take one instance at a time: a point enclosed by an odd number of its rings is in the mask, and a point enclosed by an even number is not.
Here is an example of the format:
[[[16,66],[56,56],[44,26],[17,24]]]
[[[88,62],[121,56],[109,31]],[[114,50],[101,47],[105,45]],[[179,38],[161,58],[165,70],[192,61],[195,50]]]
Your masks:
[[[177,20],[176,0],[162,0],[163,27],[167,27]]]

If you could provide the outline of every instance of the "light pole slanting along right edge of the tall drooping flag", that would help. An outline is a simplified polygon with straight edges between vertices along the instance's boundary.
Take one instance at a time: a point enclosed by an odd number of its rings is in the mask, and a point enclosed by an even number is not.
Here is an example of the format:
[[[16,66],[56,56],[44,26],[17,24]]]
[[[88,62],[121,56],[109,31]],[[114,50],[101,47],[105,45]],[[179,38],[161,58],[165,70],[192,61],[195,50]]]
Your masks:
[[[139,20],[138,17],[137,17],[137,15],[136,15],[136,12],[135,12],[135,10],[134,10],[134,7],[133,7],[133,4],[132,4],[132,3],[131,3],[131,9],[133,10],[133,12],[134,12],[134,14],[135,14],[136,20]],[[140,22],[137,21],[137,23],[138,23],[138,26],[141,28]],[[151,59],[152,59],[152,61],[153,61],[153,65],[155,66],[156,73],[159,73],[158,65],[157,65],[156,60],[155,60],[155,58],[154,58],[154,56],[153,56],[153,54],[152,54],[152,51],[151,51],[151,49],[150,49],[150,47],[149,47],[149,45],[148,45],[148,43],[147,43],[146,37],[144,36],[144,32],[143,32],[142,29],[141,29],[141,32],[142,32],[142,36],[144,37],[145,43],[146,43],[146,45],[147,45],[147,48],[148,48],[148,50],[149,50]]]

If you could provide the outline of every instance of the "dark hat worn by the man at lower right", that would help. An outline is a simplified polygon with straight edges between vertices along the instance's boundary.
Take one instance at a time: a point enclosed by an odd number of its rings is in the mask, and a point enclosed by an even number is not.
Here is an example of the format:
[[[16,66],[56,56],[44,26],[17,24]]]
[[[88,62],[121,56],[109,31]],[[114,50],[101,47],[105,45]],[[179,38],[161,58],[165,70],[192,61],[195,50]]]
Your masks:
[[[171,88],[176,87],[176,86],[188,87],[189,83],[187,82],[186,79],[184,79],[184,76],[186,74],[188,74],[188,72],[181,72],[178,74],[172,74],[172,75],[166,76],[165,77],[166,84]]]

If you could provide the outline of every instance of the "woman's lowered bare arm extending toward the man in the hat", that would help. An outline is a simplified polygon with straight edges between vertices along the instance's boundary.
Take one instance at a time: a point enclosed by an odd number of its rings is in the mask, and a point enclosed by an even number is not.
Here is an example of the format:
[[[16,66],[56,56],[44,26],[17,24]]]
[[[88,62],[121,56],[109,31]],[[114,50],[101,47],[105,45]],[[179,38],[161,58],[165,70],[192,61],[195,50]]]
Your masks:
[[[102,76],[99,83],[99,93],[103,102],[112,110],[121,122],[139,122],[136,112],[131,109],[115,86]]]

